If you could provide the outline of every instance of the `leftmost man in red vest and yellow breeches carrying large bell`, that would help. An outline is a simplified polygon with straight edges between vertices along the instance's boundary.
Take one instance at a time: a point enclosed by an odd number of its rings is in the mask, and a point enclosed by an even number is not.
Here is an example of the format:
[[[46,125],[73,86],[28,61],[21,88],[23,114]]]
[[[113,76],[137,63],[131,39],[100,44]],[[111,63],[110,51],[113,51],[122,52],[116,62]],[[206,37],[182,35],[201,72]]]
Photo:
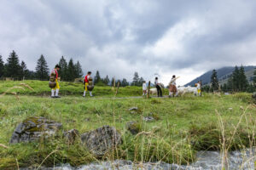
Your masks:
[[[51,98],[61,98],[59,96],[60,91],[60,77],[58,75],[58,71],[60,70],[60,65],[55,65],[55,68],[50,72],[49,84],[51,88]]]

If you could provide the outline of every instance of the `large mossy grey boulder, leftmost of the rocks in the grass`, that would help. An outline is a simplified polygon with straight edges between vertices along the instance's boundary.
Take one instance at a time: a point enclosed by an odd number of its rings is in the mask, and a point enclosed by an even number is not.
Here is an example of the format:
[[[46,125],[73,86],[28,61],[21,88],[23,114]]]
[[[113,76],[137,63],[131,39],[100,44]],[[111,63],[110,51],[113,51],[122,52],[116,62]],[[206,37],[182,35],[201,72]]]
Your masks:
[[[29,117],[16,127],[10,143],[30,142],[49,136],[53,136],[60,128],[60,122],[54,122],[44,117]]]

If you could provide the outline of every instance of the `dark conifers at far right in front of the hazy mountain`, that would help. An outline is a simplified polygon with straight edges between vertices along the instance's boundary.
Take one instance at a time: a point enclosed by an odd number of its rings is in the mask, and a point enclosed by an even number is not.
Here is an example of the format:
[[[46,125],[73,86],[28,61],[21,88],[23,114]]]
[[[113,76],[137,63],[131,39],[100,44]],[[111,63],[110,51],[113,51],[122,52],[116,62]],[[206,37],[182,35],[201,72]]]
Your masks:
[[[235,66],[234,71],[229,76],[228,81],[219,85],[217,71],[212,71],[211,84],[205,85],[202,89],[206,92],[223,91],[223,92],[249,92],[256,90],[256,68],[253,72],[253,82],[249,83],[245,75],[244,67]]]

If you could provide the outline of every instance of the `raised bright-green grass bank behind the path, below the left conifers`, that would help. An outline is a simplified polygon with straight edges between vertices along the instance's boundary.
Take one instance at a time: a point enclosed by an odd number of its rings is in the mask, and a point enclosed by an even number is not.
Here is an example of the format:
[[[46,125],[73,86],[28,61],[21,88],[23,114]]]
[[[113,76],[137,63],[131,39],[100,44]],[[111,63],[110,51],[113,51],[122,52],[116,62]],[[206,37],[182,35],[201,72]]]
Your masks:
[[[20,83],[26,83],[33,90],[29,88],[25,88],[22,90],[20,88],[16,88],[11,90],[11,92],[17,92],[22,95],[37,95],[37,96],[49,96],[50,88],[48,81],[37,81],[37,80],[27,80],[27,81],[0,81],[0,94],[7,91],[9,88],[14,86],[20,86]],[[82,82],[73,83],[73,82],[60,82],[60,95],[75,95],[82,96],[84,93],[84,84]],[[117,97],[125,97],[125,96],[141,96],[143,94],[142,87],[125,87],[119,88]],[[106,87],[95,87],[93,90],[93,95],[96,97],[112,97],[115,94],[116,89],[113,91],[113,88]],[[165,93],[168,94],[168,90],[165,89]]]

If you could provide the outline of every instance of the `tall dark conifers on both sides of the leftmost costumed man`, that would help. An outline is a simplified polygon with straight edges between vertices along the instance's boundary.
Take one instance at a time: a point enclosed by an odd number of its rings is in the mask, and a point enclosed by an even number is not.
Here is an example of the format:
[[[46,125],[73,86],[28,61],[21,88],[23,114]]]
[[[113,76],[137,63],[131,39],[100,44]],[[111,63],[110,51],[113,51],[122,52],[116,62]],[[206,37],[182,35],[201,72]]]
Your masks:
[[[73,81],[75,78],[83,76],[82,66],[79,61],[74,64],[73,59],[70,59],[67,63],[62,56],[59,65],[61,65],[59,74],[64,81]],[[9,77],[14,80],[49,80],[49,66],[42,54],[38,59],[35,71],[29,71],[26,68],[26,63],[23,60],[20,62],[18,54],[12,51],[5,64],[3,57],[0,55],[0,77]]]

